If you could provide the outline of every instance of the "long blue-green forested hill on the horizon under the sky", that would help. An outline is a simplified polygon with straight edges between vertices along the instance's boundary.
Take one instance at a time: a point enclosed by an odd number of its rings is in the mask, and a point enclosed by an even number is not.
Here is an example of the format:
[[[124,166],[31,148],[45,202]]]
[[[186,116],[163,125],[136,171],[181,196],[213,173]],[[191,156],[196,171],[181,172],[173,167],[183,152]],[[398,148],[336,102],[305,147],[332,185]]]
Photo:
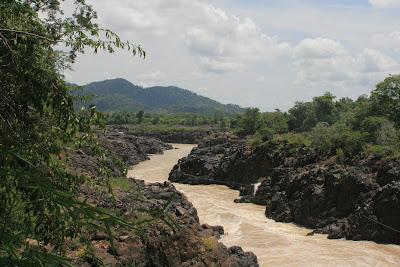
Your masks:
[[[189,90],[174,86],[143,88],[124,79],[112,79],[89,83],[83,93],[91,95],[89,104],[100,111],[132,111],[167,113],[213,114],[242,112],[238,105],[224,105]]]

